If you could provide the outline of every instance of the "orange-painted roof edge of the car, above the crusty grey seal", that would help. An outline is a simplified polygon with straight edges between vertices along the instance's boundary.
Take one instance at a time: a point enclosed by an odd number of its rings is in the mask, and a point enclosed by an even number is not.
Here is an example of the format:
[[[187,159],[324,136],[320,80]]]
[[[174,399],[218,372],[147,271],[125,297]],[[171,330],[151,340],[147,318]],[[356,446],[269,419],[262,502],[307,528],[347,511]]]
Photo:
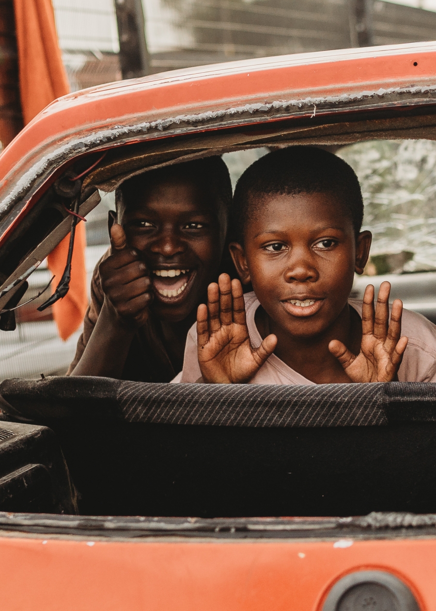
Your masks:
[[[129,127],[135,131],[136,126],[136,139],[154,131],[153,126],[168,133],[187,115],[191,130],[198,129],[196,117],[202,117],[204,130],[208,114],[229,111],[240,122],[245,114],[262,115],[256,104],[316,103],[343,95],[428,87],[436,84],[435,59],[435,42],[351,48],[175,70],[71,93],[41,111],[0,156],[0,214],[12,185],[45,156],[74,145],[77,136],[99,136],[96,144],[102,148],[114,138],[126,141],[129,134],[120,132]],[[213,123],[213,116],[209,119]],[[118,136],[105,136],[108,127],[118,128]]]

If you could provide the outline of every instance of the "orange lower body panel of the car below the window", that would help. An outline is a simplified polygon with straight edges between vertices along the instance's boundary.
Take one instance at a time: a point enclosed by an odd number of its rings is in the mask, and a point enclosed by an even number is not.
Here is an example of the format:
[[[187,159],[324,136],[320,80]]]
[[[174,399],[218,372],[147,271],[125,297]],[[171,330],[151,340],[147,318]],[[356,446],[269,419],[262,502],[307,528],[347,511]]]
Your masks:
[[[337,543],[1,538],[2,607],[318,611],[345,574],[379,569],[409,585],[421,611],[436,608],[434,539]]]

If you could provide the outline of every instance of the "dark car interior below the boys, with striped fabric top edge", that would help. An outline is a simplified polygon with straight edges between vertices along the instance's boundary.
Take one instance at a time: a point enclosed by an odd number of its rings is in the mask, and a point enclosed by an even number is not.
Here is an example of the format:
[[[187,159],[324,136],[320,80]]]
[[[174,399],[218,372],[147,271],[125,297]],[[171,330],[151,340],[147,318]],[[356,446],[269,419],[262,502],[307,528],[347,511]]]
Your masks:
[[[71,513],[68,471],[87,515],[349,516],[436,505],[435,384],[181,384],[175,393],[59,377],[4,381],[0,394],[1,510]]]

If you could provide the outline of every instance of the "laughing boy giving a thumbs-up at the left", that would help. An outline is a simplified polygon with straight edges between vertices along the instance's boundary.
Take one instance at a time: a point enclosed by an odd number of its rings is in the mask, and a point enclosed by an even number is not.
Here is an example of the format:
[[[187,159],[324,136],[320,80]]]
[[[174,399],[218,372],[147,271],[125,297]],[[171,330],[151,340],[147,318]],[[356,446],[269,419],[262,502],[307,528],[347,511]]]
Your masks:
[[[223,254],[232,186],[220,157],[150,170],[116,191],[71,375],[169,382]]]

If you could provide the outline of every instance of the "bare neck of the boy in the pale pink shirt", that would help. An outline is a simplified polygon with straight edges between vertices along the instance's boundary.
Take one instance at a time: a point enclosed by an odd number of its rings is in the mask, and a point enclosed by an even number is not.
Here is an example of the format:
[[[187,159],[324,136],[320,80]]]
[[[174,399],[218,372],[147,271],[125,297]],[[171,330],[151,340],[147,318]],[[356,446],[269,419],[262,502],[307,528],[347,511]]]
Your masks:
[[[255,322],[262,338],[270,333],[277,336],[274,354],[304,378],[315,384],[351,381],[340,362],[329,351],[329,342],[339,340],[352,353],[359,354],[362,320],[349,304],[345,305],[332,326],[323,334],[310,338],[290,335],[274,323],[261,306],[256,311]]]

